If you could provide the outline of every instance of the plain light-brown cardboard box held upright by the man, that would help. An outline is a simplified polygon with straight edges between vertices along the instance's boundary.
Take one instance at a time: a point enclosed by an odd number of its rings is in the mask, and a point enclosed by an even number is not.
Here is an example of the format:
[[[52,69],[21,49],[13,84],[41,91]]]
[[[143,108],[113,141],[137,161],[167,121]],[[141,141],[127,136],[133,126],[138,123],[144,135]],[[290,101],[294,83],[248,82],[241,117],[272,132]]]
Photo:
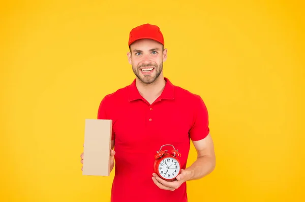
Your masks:
[[[112,120],[85,119],[83,175],[109,176]]]

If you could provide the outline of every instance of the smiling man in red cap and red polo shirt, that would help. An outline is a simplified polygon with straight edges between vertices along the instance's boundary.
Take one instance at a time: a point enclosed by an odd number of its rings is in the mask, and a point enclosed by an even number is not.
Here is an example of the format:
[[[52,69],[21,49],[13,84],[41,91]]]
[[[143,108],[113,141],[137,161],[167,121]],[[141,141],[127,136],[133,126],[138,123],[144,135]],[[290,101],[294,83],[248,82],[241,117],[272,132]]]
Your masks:
[[[131,85],[106,95],[98,109],[99,119],[113,120],[111,201],[187,201],[186,182],[215,168],[206,106],[200,96],[163,76],[167,49],[158,26],[133,28],[128,45],[128,61],[136,78]],[[190,140],[198,157],[186,168]],[[166,144],[181,153],[181,173],[171,182],[154,173],[156,151]]]

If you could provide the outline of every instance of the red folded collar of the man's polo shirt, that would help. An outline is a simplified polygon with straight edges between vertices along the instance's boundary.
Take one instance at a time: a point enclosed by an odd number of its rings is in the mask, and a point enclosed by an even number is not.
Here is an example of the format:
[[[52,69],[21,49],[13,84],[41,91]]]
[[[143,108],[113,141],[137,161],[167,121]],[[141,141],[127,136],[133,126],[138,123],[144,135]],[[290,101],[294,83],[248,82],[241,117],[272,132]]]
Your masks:
[[[175,87],[167,77],[164,77],[164,79],[166,81],[165,87],[158,99],[159,100],[162,100],[162,99],[173,100],[173,99],[175,99]],[[132,84],[129,85],[129,101],[131,102],[131,101],[139,100],[139,99],[143,99],[143,97],[140,95],[140,93],[136,87],[136,79],[134,79]]]

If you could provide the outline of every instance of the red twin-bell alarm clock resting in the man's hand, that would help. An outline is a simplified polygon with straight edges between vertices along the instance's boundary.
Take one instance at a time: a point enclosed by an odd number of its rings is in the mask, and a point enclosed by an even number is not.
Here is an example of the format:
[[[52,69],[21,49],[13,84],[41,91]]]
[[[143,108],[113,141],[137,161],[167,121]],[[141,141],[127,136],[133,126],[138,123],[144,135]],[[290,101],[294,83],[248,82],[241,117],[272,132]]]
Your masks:
[[[172,146],[174,149],[170,152],[161,150],[164,146]],[[181,154],[173,145],[165,144],[161,146],[160,150],[155,154],[155,173],[166,181],[174,181],[181,170],[178,157],[181,157]]]

